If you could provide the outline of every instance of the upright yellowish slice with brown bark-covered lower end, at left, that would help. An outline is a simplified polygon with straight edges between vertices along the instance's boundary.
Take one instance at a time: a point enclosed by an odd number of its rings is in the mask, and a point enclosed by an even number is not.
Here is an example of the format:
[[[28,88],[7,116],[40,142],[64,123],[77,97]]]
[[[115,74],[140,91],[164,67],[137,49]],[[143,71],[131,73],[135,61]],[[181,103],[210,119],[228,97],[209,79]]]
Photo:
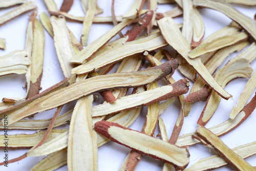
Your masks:
[[[45,31],[38,19],[34,22],[33,48],[30,65],[30,88],[27,98],[39,94],[41,89],[42,67],[45,56]]]

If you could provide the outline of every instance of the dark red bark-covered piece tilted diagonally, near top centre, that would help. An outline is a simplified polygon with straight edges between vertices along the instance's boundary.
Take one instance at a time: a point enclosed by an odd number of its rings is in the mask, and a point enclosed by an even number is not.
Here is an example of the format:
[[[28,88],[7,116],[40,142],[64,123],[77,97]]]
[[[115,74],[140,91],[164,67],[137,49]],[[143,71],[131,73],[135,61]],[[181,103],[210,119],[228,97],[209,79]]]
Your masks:
[[[150,24],[153,17],[154,11],[148,11],[143,18],[132,28],[132,30],[127,31],[124,36],[129,36],[127,41],[135,40],[135,38]],[[126,42],[127,42],[126,41]]]

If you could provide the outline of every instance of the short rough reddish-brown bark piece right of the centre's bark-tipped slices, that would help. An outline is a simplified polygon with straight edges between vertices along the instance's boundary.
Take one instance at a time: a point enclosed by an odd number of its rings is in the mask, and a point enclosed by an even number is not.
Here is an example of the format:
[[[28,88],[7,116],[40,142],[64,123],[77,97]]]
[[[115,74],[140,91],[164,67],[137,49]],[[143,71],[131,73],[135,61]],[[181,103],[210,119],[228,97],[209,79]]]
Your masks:
[[[205,86],[203,89],[187,95],[183,101],[186,103],[195,103],[201,100],[206,100],[210,95],[210,92],[208,91],[208,89],[209,87]]]

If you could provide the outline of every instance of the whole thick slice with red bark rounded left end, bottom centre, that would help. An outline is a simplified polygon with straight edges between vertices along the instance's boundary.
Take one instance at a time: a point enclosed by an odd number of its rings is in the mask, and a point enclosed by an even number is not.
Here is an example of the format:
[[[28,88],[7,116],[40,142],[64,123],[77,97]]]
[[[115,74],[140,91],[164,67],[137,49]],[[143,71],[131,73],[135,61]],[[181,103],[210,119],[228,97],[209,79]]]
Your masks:
[[[189,162],[187,148],[179,148],[138,131],[127,129],[117,123],[100,121],[95,123],[95,130],[111,141],[130,147],[143,155],[172,163],[178,168],[184,169]],[[134,138],[131,139],[131,137]],[[149,148],[151,150],[148,150]]]

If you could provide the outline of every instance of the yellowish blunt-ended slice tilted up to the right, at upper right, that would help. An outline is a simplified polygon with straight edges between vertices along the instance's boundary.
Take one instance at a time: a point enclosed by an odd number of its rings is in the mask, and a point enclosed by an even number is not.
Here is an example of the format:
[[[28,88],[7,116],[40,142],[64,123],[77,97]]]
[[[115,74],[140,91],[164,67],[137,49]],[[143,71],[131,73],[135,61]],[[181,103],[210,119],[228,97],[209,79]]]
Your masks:
[[[247,38],[248,38],[248,35],[244,32],[216,38],[211,42],[208,42],[206,44],[201,44],[199,47],[190,51],[188,55],[190,58],[196,58],[205,53],[216,51],[224,47],[237,44],[238,42],[245,41]]]

